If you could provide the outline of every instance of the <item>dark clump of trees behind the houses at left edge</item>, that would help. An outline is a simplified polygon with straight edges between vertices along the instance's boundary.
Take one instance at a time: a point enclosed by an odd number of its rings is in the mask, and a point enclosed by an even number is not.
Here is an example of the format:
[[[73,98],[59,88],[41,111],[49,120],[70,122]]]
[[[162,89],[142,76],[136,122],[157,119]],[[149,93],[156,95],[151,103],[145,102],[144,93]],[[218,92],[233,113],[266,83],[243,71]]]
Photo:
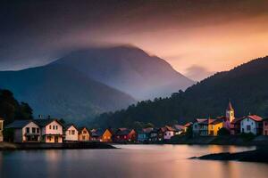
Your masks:
[[[32,119],[32,109],[26,102],[17,101],[9,90],[0,89],[0,117],[4,124],[13,122],[14,119]]]

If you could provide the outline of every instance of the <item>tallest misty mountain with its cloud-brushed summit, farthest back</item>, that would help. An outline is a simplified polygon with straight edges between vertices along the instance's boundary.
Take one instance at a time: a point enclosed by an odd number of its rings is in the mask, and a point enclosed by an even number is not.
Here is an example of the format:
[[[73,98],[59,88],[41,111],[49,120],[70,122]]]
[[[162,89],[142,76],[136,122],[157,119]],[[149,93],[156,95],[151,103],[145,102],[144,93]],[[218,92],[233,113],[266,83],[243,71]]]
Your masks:
[[[132,46],[91,48],[64,56],[51,65],[78,69],[138,100],[168,96],[194,82],[162,59]]]

